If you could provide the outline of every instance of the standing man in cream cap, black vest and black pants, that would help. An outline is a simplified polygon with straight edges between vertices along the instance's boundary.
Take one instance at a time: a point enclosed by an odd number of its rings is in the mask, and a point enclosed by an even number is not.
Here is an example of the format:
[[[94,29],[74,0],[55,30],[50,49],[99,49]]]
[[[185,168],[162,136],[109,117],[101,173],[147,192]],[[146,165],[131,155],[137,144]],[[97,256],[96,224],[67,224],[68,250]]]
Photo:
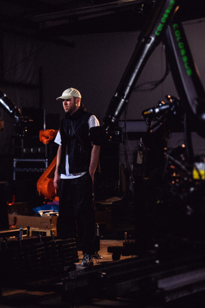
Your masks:
[[[82,266],[92,266],[95,253],[95,211],[93,179],[100,147],[89,140],[89,129],[99,126],[97,118],[86,111],[81,94],[74,88],[62,96],[65,118],[55,138],[59,144],[54,187],[60,188],[57,237],[81,240]]]

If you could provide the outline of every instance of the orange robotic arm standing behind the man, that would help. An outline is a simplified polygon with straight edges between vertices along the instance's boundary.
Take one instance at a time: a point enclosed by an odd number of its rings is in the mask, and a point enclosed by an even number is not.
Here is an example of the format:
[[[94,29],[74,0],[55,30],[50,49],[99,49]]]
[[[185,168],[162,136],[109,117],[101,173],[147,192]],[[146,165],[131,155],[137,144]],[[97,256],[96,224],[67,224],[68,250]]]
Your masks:
[[[49,141],[53,140],[53,138],[57,135],[56,130],[47,129],[45,131],[39,132],[39,139],[44,144],[48,144]],[[49,200],[58,200],[56,188],[53,186],[53,177],[56,168],[56,157],[53,159],[51,164],[45,170],[45,172],[41,175],[41,177],[37,181],[37,190],[39,196],[45,196],[46,199]]]

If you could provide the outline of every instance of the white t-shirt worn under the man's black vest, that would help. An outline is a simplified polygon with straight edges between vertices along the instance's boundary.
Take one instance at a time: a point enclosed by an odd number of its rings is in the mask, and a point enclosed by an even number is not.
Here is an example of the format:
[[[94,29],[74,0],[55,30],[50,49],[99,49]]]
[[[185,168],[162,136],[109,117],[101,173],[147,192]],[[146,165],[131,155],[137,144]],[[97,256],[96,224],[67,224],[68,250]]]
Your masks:
[[[91,127],[99,126],[100,125],[99,121],[97,120],[95,115],[91,115],[89,117],[88,124],[89,124],[89,129]],[[61,134],[60,134],[60,131],[58,131],[57,136],[56,136],[54,142],[59,144],[59,145],[61,145]],[[67,150],[66,150],[66,159],[65,159],[65,172],[66,172],[66,175],[65,174],[61,174],[61,179],[72,179],[74,177],[82,176],[82,175],[84,175],[86,173],[86,172],[69,173],[68,152],[67,152]]]

